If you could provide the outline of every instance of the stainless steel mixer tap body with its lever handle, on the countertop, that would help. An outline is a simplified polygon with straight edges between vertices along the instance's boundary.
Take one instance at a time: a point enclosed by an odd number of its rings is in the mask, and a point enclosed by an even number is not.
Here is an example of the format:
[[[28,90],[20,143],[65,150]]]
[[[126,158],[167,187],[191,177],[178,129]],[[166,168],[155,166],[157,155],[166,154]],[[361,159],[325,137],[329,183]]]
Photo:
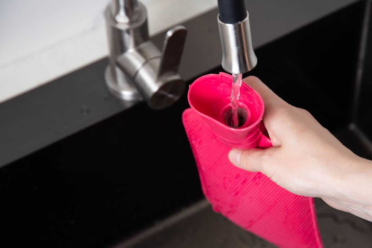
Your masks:
[[[141,2],[112,0],[105,19],[110,52],[105,81],[109,91],[125,101],[144,100],[155,110],[176,102],[185,90],[178,67],[186,28],[171,28],[160,51],[148,36],[146,8]]]

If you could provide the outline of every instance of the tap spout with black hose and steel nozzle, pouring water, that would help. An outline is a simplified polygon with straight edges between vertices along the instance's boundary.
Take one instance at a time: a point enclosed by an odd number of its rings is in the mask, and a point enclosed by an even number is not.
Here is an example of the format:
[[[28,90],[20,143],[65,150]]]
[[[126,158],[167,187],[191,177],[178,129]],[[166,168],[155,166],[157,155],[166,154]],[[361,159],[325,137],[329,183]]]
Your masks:
[[[244,0],[218,0],[217,16],[222,45],[222,68],[240,74],[257,65],[249,24],[249,14]]]

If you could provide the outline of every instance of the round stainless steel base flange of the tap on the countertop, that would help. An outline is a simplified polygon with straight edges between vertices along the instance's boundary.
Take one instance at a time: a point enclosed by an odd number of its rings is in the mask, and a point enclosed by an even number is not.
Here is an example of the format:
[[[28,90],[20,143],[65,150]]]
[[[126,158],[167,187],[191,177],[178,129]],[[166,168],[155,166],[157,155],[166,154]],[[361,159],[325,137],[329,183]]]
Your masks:
[[[115,69],[120,70],[119,68]],[[142,101],[143,98],[140,92],[138,92],[137,88],[133,86],[129,80],[130,79],[126,77],[115,77],[115,75],[113,75],[113,70],[111,70],[111,66],[108,65],[106,67],[105,81],[110,93],[125,101]]]

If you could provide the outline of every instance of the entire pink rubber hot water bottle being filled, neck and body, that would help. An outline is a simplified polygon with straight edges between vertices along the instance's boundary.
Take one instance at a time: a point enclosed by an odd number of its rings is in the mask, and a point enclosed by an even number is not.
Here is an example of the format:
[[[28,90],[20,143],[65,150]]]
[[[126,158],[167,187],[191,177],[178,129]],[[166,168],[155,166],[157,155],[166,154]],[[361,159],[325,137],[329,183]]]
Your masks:
[[[262,122],[263,100],[247,84],[241,86],[238,104],[245,123],[238,129],[226,124],[231,84],[232,76],[225,73],[198,78],[189,88],[191,109],[182,115],[206,199],[216,212],[280,248],[323,248],[311,197],[228,160],[231,148],[272,146]]]

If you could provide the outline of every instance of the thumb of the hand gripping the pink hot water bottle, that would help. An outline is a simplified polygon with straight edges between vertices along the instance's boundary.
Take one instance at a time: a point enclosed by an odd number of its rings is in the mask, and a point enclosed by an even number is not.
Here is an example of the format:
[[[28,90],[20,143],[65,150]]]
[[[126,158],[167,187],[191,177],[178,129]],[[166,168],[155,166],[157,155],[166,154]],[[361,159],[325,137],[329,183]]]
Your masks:
[[[261,172],[269,177],[270,165],[274,163],[275,152],[279,147],[270,147],[267,149],[253,148],[250,150],[232,149],[229,152],[230,162],[243,170],[251,172]]]

